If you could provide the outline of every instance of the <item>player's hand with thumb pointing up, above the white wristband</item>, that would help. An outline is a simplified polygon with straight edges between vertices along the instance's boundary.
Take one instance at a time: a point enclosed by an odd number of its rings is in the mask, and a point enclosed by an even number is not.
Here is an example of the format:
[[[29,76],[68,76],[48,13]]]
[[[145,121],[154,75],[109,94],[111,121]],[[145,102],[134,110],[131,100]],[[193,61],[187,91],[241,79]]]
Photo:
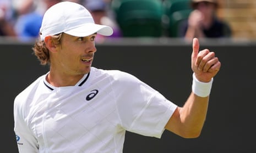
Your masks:
[[[199,41],[193,39],[193,53],[191,56],[191,66],[195,77],[201,82],[209,82],[220,70],[221,63],[214,52],[204,49],[199,52]]]

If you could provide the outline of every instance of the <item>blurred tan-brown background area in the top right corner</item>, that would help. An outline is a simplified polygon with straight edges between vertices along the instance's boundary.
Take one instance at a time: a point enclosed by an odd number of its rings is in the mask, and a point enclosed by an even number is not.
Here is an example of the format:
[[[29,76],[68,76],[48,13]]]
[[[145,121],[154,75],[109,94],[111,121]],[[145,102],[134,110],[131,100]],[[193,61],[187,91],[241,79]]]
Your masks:
[[[233,31],[232,38],[256,38],[256,1],[254,0],[219,0],[217,15],[226,20]]]

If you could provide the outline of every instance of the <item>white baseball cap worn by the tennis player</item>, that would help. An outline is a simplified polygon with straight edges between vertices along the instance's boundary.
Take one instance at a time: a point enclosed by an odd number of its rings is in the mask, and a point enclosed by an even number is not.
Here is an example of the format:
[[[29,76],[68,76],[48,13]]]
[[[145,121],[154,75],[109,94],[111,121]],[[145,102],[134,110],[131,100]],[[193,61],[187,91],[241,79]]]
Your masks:
[[[76,37],[86,37],[94,33],[110,36],[113,29],[109,26],[94,23],[89,11],[78,3],[61,2],[53,5],[43,15],[40,38],[58,33],[67,33]]]

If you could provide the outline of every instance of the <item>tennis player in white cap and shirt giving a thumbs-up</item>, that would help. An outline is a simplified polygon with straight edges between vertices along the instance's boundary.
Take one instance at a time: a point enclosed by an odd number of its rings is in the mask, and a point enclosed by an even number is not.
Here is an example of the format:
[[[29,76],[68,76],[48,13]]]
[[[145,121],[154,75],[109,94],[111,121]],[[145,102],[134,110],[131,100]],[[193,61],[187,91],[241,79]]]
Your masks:
[[[199,137],[213,77],[221,63],[193,40],[192,92],[179,107],[129,73],[92,67],[97,25],[82,5],[61,2],[43,16],[34,53],[50,71],[14,100],[14,131],[20,153],[123,151],[126,131],[161,138],[167,130]]]

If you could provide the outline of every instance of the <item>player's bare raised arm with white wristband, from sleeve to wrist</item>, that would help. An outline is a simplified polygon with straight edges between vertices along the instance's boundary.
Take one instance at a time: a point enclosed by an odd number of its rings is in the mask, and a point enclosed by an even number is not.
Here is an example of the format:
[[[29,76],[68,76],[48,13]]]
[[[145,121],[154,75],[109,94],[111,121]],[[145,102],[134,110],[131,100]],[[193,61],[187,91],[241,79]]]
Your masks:
[[[212,83],[213,79],[200,82],[193,74],[192,93],[183,107],[175,111],[166,129],[184,138],[198,137],[206,118]]]

